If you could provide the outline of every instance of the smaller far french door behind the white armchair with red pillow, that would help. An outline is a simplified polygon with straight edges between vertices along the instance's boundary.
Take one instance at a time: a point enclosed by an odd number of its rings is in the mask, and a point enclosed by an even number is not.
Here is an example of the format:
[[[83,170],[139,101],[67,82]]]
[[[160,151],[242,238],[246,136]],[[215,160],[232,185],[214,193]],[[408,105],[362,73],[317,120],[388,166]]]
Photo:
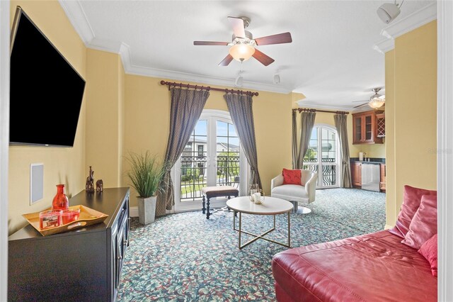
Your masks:
[[[340,184],[340,144],[335,128],[314,125],[309,148],[304,157],[304,169],[318,172],[316,187],[335,188]]]

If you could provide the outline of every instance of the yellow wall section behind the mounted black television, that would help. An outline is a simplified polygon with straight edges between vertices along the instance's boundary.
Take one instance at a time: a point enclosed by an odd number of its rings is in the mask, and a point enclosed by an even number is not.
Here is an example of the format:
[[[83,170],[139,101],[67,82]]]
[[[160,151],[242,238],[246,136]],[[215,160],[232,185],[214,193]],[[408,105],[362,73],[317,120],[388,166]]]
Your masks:
[[[11,26],[21,6],[62,55],[86,79],[86,52],[84,43],[67,19],[58,1],[11,1]],[[52,84],[52,83],[50,83]],[[8,233],[26,224],[23,213],[42,211],[52,206],[56,184],[65,184],[69,196],[84,189],[85,174],[85,121],[86,94],[77,125],[74,147],[9,148],[9,208]],[[44,198],[30,206],[30,164],[44,164]]]

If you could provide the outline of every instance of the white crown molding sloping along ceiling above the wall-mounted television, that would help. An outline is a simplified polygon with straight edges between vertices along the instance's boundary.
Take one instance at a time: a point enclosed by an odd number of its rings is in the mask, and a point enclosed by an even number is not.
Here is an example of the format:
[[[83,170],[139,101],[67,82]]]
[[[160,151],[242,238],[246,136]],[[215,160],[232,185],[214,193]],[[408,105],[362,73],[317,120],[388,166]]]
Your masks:
[[[91,41],[95,38],[95,35],[80,2],[67,0],[58,0],[58,2],[62,6],[66,16],[69,18],[72,26],[79,34],[79,37],[84,42],[85,46],[88,47]]]

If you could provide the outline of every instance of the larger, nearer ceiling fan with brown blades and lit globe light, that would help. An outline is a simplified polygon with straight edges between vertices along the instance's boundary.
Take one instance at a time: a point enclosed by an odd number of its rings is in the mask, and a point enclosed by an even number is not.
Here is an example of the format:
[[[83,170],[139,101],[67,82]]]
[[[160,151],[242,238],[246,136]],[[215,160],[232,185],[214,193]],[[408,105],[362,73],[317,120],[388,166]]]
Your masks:
[[[268,66],[275,60],[268,55],[265,55],[256,46],[291,43],[291,33],[279,33],[277,35],[268,35],[266,37],[253,39],[251,32],[246,30],[250,24],[250,18],[247,17],[228,17],[228,21],[233,27],[233,38],[231,42],[212,42],[212,41],[193,41],[193,45],[224,45],[231,46],[229,54],[219,63],[219,66],[228,66],[233,59],[240,62],[246,61],[251,57],[261,62],[264,66]]]

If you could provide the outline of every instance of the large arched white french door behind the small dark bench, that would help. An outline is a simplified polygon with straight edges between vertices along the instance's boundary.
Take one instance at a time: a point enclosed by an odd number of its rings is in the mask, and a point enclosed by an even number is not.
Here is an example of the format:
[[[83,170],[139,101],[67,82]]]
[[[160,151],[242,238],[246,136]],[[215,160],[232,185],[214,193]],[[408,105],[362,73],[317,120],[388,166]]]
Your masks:
[[[183,154],[172,169],[175,210],[201,208],[203,186],[234,186],[245,192],[248,164],[229,113],[203,111]],[[212,198],[212,207],[226,198]]]

